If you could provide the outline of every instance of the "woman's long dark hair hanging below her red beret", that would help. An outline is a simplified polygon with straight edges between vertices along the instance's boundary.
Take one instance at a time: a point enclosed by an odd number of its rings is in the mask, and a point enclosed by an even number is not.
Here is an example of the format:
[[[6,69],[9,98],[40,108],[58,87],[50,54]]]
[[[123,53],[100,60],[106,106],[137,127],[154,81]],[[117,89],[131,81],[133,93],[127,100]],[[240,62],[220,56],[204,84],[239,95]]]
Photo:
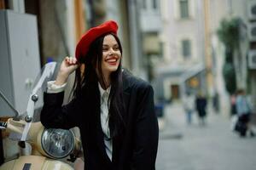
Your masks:
[[[104,88],[106,84],[102,74],[102,44],[104,37],[112,35],[118,42],[120,53],[122,54],[122,46],[119,41],[119,37],[113,33],[104,34],[98,37],[94,42],[90,44],[90,48],[86,56],[79,57],[79,63],[84,65],[76,70],[75,82],[73,86],[73,97],[78,98],[83,94],[83,88],[90,88],[91,93],[95,93],[98,87],[98,82],[102,82]],[[122,82],[122,65],[121,59],[117,71],[113,71],[110,74],[111,91],[108,98],[108,119],[111,138],[118,133],[122,133],[125,130],[125,122],[123,120],[122,112],[125,111],[124,99],[122,94],[123,82]],[[82,68],[82,69],[81,69]],[[97,73],[96,74],[96,69]],[[93,87],[92,87],[93,86]],[[94,92],[92,92],[92,91]],[[93,98],[95,99],[95,98]]]

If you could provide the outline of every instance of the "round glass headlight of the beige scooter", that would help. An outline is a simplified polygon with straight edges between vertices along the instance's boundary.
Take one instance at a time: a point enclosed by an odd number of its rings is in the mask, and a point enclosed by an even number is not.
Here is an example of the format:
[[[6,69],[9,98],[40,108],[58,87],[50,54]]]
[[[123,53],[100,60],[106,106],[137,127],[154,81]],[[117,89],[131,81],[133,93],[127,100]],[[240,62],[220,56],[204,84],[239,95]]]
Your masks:
[[[45,128],[41,142],[44,152],[54,158],[66,157],[74,148],[73,133],[59,128]]]

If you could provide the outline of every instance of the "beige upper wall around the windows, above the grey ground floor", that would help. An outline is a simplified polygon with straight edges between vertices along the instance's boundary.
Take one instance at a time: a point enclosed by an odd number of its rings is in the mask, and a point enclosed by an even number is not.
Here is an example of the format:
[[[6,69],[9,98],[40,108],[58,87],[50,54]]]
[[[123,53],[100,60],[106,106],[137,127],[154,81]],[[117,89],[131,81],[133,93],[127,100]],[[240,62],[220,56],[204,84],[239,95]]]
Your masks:
[[[201,62],[204,56],[203,4],[198,0],[189,1],[190,20],[179,18],[177,0],[160,2],[163,31],[160,35],[164,44],[164,58],[171,65]],[[191,59],[184,61],[181,55],[181,40],[191,41]]]

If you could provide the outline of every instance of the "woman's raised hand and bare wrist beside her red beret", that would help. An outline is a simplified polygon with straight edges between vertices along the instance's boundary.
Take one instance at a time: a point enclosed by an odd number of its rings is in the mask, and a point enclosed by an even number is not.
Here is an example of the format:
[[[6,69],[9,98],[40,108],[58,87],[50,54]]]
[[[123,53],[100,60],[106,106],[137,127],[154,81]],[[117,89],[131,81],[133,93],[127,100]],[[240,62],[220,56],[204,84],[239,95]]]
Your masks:
[[[66,57],[61,62],[61,68],[58,72],[55,84],[62,85],[67,82],[68,76],[79,67],[78,61],[74,57]]]

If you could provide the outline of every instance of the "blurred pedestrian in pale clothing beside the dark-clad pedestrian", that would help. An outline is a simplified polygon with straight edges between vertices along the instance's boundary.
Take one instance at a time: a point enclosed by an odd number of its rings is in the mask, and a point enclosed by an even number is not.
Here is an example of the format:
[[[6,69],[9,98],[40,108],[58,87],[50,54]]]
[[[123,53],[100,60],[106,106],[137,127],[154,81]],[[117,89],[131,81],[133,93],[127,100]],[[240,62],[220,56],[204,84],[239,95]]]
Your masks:
[[[189,92],[183,99],[183,108],[186,113],[187,123],[191,124],[192,122],[192,113],[195,111],[195,97]]]

